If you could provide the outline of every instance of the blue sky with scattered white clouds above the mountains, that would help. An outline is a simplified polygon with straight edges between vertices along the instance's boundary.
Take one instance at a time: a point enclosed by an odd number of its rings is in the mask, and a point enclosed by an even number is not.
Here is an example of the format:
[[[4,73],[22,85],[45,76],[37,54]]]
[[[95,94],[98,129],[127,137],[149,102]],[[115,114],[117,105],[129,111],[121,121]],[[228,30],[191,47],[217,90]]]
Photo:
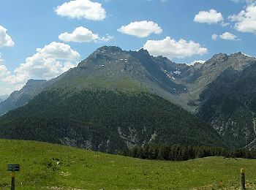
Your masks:
[[[50,80],[103,45],[176,63],[256,56],[255,0],[1,0],[0,96]]]

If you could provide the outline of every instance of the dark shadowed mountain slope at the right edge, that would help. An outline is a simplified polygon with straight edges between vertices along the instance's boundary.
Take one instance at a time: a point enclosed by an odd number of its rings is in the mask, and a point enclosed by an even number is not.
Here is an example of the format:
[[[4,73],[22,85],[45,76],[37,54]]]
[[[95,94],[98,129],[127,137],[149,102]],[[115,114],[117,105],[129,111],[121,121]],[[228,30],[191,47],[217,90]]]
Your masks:
[[[234,147],[255,148],[256,64],[244,70],[227,68],[200,95],[197,115]]]

